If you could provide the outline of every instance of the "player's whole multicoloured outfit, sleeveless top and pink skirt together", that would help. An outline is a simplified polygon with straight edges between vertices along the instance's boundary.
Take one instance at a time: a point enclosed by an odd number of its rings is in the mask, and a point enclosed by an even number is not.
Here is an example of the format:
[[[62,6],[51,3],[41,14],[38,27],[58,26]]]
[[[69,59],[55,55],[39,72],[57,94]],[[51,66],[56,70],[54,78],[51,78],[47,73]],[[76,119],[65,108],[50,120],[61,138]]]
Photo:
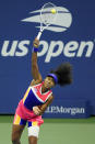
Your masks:
[[[25,125],[28,122],[28,126],[40,125],[44,123],[41,115],[36,115],[33,112],[33,107],[44,104],[51,96],[52,91],[48,90],[41,93],[41,84],[36,86],[29,86],[26,90],[24,98],[19,102],[19,106],[14,115],[14,124]]]

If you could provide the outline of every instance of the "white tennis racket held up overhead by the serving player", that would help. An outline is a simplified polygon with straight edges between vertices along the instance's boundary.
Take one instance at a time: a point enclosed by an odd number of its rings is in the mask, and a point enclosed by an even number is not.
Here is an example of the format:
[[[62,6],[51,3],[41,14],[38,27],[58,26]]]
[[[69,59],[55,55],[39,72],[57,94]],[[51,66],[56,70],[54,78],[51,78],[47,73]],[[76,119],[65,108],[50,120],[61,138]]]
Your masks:
[[[40,38],[43,31],[52,24],[52,22],[56,20],[56,16],[57,7],[54,3],[48,2],[43,5],[40,10],[40,31],[36,37],[37,40]]]

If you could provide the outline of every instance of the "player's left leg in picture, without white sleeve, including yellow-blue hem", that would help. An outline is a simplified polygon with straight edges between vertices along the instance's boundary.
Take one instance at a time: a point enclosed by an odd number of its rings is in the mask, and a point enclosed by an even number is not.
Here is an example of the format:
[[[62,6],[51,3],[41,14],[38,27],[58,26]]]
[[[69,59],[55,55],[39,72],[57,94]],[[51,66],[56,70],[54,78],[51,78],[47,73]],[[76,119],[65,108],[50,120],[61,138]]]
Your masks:
[[[14,122],[12,126],[12,144],[21,144],[20,139],[22,135],[22,132],[25,128],[26,121],[21,119],[20,115],[14,117]]]

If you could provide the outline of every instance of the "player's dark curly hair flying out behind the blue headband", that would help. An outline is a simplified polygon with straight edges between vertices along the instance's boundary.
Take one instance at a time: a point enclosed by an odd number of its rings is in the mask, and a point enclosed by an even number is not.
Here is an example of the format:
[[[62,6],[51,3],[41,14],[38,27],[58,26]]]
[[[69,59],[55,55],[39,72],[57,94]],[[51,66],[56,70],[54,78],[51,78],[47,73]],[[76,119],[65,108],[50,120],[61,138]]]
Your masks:
[[[63,63],[56,70],[51,70],[50,73],[57,76],[60,86],[72,82],[72,66],[70,63]]]

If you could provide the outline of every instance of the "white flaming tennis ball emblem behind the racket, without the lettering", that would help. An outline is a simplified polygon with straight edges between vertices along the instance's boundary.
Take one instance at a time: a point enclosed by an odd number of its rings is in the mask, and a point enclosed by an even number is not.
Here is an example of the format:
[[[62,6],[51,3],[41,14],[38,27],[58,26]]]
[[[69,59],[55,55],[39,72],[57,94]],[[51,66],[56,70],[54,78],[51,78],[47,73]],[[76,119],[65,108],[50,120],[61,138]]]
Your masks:
[[[67,31],[71,23],[72,23],[72,14],[70,11],[63,7],[57,7],[57,19],[55,22],[52,21],[51,25],[48,26],[46,30],[48,31],[54,31],[54,32],[64,32]],[[40,10],[36,10],[31,12],[33,15],[29,18],[26,18],[22,20],[23,22],[35,22],[38,25],[36,26],[37,29],[40,29],[39,23],[40,23]]]

